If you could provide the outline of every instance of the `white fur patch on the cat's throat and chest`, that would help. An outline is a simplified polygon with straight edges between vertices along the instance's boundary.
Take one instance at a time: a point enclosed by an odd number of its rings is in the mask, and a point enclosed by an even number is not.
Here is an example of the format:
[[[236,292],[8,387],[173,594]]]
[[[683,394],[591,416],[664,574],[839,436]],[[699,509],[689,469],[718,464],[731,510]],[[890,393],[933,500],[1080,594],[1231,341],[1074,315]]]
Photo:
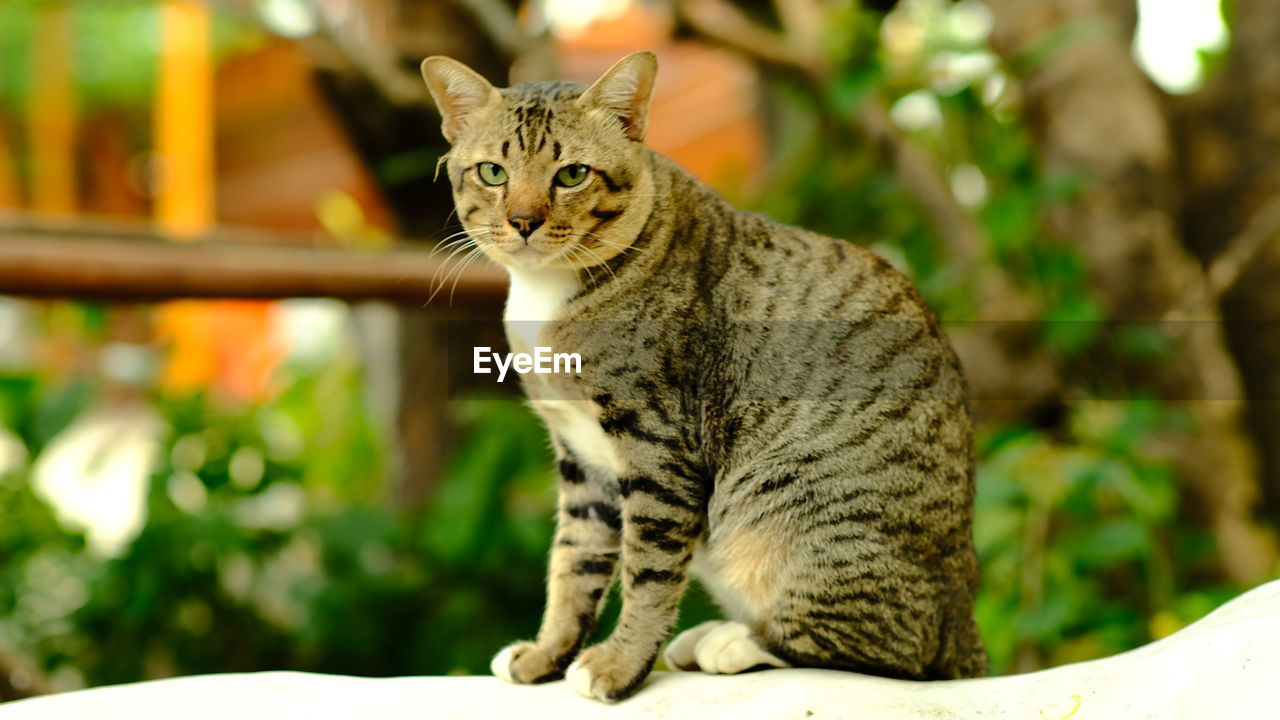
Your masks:
[[[521,270],[508,268],[511,287],[503,323],[516,352],[538,346],[543,325],[559,318],[561,309],[580,290],[573,270]],[[559,348],[552,348],[553,351]],[[590,400],[556,398],[545,388],[545,375],[526,375],[534,410],[556,437],[585,465],[618,477],[622,459],[600,428],[600,407]]]

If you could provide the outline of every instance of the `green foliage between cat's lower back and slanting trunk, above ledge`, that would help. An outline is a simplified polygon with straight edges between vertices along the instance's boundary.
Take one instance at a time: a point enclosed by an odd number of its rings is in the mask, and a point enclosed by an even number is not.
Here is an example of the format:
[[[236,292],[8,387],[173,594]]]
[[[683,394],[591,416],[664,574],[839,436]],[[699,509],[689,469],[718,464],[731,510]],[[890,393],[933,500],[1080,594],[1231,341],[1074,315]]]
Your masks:
[[[1206,582],[1212,543],[1153,450],[1178,416],[1156,401],[1089,401],[1065,437],[1005,427],[978,445],[978,619],[997,671],[1120,652],[1234,591]]]

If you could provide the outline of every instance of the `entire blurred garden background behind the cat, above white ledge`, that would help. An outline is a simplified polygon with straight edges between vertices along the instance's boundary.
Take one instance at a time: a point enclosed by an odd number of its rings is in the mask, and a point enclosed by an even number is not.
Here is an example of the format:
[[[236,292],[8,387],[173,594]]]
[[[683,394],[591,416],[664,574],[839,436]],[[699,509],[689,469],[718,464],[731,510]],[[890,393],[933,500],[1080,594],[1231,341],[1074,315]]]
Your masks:
[[[993,673],[1277,577],[1270,0],[8,0],[0,698],[485,673],[535,632],[549,451],[451,369],[504,274],[431,254],[458,227],[417,64],[591,81],[636,49],[652,147],[943,318]],[[681,624],[713,614],[695,588]]]

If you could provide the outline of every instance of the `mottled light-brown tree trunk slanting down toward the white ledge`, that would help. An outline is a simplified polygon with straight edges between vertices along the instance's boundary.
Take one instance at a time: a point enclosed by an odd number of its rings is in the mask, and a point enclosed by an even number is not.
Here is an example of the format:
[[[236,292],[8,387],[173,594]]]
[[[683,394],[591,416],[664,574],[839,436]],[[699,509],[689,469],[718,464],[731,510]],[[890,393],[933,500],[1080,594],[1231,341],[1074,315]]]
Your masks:
[[[1025,114],[1046,174],[1084,181],[1071,204],[1046,210],[1050,232],[1071,238],[1088,259],[1114,320],[1151,322],[1180,310],[1180,322],[1166,325],[1174,352],[1140,377],[1194,419],[1193,436],[1169,443],[1171,459],[1203,509],[1226,573],[1256,583],[1274,566],[1275,550],[1252,519],[1258,486],[1242,419],[1245,396],[1216,295],[1183,245],[1166,99],[1130,56],[1134,5],[989,4],[992,45],[1025,73]]]

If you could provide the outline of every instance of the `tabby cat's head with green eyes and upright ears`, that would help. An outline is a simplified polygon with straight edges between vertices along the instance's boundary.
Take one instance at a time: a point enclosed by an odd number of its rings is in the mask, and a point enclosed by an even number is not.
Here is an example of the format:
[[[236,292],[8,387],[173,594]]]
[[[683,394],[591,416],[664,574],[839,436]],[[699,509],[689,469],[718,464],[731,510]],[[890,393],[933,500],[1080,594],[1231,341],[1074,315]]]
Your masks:
[[[462,227],[515,268],[589,268],[626,251],[653,206],[644,133],[657,59],[635,53],[594,85],[504,90],[451,58],[422,77],[453,147]]]

